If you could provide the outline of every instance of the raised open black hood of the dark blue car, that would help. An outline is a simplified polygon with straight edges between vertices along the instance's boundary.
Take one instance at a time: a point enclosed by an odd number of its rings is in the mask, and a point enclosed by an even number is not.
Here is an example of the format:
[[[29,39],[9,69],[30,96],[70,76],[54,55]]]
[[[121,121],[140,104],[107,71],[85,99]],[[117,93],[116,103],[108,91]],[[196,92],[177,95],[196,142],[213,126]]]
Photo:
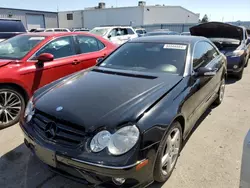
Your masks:
[[[207,38],[231,38],[242,40],[243,29],[220,22],[208,22],[190,28],[191,35]]]

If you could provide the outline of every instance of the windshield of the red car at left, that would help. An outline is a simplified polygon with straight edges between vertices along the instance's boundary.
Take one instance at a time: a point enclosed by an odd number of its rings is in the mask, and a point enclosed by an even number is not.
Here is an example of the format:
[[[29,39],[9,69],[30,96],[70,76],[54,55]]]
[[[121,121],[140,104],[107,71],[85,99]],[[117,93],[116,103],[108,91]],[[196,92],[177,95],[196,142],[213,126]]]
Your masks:
[[[18,35],[3,41],[0,43],[0,59],[22,59],[44,39],[42,36]]]

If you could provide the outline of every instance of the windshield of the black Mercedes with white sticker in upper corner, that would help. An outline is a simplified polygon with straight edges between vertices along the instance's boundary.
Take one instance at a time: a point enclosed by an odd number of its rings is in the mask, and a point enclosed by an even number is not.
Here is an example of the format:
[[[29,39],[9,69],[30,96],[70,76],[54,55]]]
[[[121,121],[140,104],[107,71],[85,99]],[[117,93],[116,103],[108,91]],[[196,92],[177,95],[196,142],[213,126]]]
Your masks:
[[[182,75],[187,46],[165,43],[126,43],[104,60],[100,67]]]

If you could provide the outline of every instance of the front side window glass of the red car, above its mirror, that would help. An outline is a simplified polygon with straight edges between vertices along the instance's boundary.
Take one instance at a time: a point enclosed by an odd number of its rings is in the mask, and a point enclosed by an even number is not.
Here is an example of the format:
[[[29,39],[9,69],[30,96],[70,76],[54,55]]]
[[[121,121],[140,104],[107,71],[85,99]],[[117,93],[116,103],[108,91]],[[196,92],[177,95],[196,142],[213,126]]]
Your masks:
[[[76,55],[72,37],[61,37],[51,41],[42,47],[32,59],[35,60],[40,54],[43,53],[50,53],[54,55],[54,59]]]

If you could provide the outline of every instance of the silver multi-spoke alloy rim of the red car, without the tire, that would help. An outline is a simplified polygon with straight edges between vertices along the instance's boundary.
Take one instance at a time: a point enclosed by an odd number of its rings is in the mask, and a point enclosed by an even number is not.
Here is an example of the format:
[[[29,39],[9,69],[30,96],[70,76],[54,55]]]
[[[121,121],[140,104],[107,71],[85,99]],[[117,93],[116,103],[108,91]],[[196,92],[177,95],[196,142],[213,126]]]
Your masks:
[[[22,101],[17,94],[11,91],[0,92],[0,126],[15,121],[21,108]]]

